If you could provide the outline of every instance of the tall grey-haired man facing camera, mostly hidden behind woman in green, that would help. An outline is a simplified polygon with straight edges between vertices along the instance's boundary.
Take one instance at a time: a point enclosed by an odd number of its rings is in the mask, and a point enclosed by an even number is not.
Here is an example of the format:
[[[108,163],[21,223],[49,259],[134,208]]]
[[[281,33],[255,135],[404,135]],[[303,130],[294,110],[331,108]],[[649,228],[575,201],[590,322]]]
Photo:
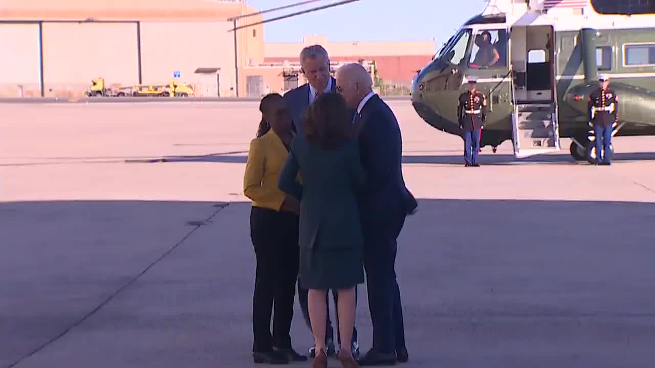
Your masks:
[[[291,115],[291,120],[293,120],[293,129],[297,134],[304,135],[303,132],[303,122],[302,117],[307,107],[314,102],[314,99],[324,92],[335,92],[337,88],[337,82],[333,77],[330,76],[330,67],[329,67],[329,56],[327,51],[323,46],[312,45],[303,48],[300,53],[300,65],[301,71],[307,78],[308,83],[294,88],[289,92],[284,94],[284,99],[287,103],[287,109]],[[311,329],[309,322],[309,308],[307,305],[307,293],[308,290],[298,282],[298,300],[300,303],[301,310],[303,311],[303,317],[305,318],[305,323]],[[357,295],[357,288],[355,288],[355,295]],[[332,291],[332,296],[334,299],[335,308],[337,306],[337,291]],[[356,297],[355,297],[356,299]],[[326,353],[328,355],[336,354],[334,346],[334,330],[332,328],[332,323],[329,319],[329,299],[326,295],[326,308],[327,308],[327,325],[326,325]],[[341,344],[341,339],[339,338],[339,321],[337,320],[337,340]],[[354,328],[352,331],[352,354],[357,357],[360,351],[359,344],[357,341],[357,329]],[[309,350],[310,357],[314,357],[316,353],[315,349],[312,347]]]

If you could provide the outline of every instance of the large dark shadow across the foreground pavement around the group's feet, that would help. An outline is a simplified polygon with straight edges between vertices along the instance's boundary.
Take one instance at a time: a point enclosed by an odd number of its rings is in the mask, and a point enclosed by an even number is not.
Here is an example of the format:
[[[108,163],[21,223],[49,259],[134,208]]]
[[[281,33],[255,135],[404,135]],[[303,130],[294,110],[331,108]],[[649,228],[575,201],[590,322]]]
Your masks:
[[[255,367],[249,211],[2,204],[0,367]],[[396,261],[411,367],[648,367],[654,221],[650,203],[419,200]],[[298,309],[292,337],[311,345]]]

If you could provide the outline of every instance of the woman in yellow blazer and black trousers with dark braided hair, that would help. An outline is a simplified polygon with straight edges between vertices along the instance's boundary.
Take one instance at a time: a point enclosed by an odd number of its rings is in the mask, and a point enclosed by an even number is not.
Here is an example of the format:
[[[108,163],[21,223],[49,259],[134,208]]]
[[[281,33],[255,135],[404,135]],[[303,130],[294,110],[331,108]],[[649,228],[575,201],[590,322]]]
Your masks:
[[[257,138],[250,142],[244,174],[244,194],[252,200],[250,238],[257,262],[252,308],[253,361],[278,364],[305,361],[307,356],[291,348],[290,337],[299,268],[300,204],[278,189],[280,172],[293,139],[291,118],[280,94],[265,96],[259,111],[262,119]]]

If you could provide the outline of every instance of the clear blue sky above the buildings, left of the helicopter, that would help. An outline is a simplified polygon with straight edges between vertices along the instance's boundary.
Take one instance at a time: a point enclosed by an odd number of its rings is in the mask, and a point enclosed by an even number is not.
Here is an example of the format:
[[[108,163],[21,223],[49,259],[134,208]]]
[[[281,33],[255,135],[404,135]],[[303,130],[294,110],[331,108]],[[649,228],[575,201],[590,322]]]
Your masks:
[[[247,0],[265,10],[300,0]],[[303,7],[280,10],[265,19],[319,7],[337,0],[324,0]],[[437,47],[468,18],[486,6],[483,0],[360,0],[309,14],[265,24],[267,42],[299,42],[303,35],[327,35],[328,41],[430,41]]]

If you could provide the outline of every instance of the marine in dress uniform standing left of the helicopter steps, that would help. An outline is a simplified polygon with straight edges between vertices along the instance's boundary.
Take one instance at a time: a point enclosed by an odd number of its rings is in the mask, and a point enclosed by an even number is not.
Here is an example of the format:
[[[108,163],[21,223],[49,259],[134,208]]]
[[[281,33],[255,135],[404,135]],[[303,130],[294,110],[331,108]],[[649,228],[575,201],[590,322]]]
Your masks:
[[[476,90],[477,77],[468,77],[468,91],[460,94],[457,104],[459,128],[464,133],[464,166],[480,166],[480,132],[485,124],[487,98]]]

